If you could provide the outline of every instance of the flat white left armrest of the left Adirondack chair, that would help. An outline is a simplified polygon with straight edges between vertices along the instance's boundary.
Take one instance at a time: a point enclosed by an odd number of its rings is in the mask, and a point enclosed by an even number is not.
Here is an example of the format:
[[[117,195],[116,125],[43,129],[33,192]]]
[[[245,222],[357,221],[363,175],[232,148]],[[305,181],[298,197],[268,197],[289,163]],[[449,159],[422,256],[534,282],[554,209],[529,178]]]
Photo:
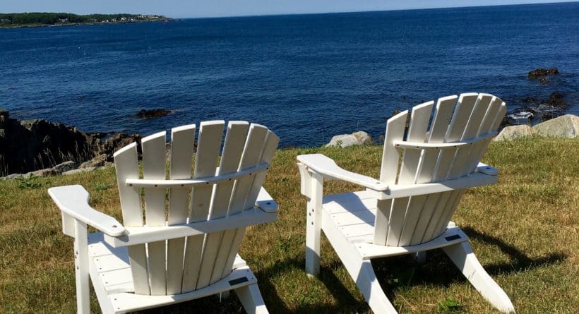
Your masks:
[[[89,224],[109,236],[125,234],[123,225],[88,205],[88,192],[83,186],[58,186],[49,188],[48,194],[60,210],[74,219]]]

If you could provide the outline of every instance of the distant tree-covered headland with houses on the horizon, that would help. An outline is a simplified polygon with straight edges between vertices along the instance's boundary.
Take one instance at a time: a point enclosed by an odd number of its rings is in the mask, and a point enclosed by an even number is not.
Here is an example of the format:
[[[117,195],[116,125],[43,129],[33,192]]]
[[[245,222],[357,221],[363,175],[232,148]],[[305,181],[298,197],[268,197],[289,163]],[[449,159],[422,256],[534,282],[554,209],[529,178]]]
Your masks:
[[[145,16],[136,14],[89,14],[79,16],[73,13],[0,13],[0,26],[11,25],[56,25],[64,23],[121,22],[126,20],[160,20],[165,16]]]

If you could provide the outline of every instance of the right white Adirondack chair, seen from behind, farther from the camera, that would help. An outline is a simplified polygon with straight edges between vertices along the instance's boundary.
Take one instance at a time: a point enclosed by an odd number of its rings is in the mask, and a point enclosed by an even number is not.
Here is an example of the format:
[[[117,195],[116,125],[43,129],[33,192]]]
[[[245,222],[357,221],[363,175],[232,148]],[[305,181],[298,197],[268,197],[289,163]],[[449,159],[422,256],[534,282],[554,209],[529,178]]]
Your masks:
[[[443,248],[484,298],[514,312],[472,253],[466,234],[450,222],[465,188],[496,183],[497,170],[479,160],[506,105],[486,94],[443,97],[429,123],[433,107],[431,101],[412,109],[406,135],[407,111],[388,119],[380,180],[341,169],[324,155],[297,157],[302,194],[308,198],[306,272],[319,272],[323,230],[374,313],[396,313],[370,260],[408,253],[423,259],[424,251]],[[323,179],[366,190],[323,196]]]

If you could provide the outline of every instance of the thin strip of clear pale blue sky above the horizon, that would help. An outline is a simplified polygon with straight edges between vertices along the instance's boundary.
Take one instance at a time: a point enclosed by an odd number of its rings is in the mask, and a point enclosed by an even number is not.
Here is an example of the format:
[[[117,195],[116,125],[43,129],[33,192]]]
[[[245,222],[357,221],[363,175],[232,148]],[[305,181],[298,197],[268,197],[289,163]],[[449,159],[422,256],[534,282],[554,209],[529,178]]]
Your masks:
[[[172,18],[494,6],[564,0],[0,0],[0,13],[145,13]]]

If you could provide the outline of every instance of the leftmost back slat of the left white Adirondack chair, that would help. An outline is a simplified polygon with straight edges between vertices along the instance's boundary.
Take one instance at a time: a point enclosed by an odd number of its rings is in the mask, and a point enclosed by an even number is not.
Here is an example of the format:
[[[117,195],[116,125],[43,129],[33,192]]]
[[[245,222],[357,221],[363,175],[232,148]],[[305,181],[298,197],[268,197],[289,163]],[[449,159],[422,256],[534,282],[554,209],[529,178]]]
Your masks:
[[[143,226],[141,189],[126,186],[124,183],[125,178],[139,178],[137,144],[131,143],[117,150],[114,153],[114,166],[117,172],[123,224],[125,227],[141,227]],[[135,293],[150,294],[145,244],[129,246],[128,250]]]

